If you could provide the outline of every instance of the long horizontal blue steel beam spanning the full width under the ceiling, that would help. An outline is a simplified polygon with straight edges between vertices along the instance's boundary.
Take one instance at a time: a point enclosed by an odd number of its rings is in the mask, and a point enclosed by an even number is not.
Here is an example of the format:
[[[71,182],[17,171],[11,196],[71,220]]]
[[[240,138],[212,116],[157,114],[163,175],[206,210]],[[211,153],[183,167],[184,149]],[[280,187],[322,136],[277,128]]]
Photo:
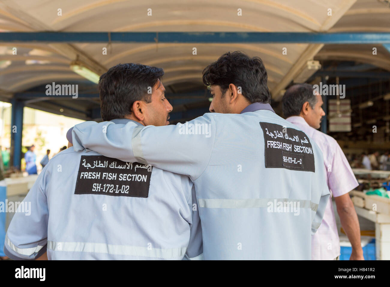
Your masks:
[[[390,44],[390,33],[303,32],[4,32],[0,42]],[[109,39],[110,38],[110,39]]]

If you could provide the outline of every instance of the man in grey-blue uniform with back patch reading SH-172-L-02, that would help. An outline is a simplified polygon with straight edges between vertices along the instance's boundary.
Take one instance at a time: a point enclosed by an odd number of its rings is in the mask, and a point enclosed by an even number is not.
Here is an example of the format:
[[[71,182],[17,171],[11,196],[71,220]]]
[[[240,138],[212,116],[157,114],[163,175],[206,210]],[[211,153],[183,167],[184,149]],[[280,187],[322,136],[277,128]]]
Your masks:
[[[172,106],[163,73],[139,64],[108,70],[99,80],[102,118],[166,125]],[[15,214],[4,251],[13,259],[35,259],[46,249],[48,259],[201,258],[195,197],[187,176],[71,147],[37,178],[23,201],[31,215]]]

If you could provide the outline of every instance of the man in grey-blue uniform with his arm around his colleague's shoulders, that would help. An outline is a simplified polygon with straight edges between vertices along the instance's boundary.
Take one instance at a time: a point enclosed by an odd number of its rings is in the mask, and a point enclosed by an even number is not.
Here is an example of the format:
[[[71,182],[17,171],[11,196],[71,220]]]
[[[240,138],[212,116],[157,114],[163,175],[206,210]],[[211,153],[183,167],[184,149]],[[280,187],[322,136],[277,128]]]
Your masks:
[[[260,58],[225,53],[203,82],[213,113],[165,127],[81,123],[75,150],[190,176],[204,259],[310,260],[329,199],[321,150],[271,108]]]

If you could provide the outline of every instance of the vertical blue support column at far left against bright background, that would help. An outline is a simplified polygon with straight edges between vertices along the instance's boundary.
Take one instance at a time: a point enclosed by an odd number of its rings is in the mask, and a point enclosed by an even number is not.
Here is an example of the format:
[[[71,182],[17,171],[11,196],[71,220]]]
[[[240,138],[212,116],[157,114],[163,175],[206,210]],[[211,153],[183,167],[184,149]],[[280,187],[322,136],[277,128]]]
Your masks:
[[[24,102],[12,99],[11,103],[11,166],[20,169]]]

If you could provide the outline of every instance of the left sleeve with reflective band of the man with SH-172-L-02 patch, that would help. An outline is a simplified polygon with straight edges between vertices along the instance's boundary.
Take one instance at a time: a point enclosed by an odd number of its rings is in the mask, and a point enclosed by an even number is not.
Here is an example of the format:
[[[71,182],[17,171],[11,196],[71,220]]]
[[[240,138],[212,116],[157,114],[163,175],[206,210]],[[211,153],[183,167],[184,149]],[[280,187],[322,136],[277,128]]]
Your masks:
[[[4,244],[4,253],[11,259],[34,260],[46,252],[49,211],[45,174],[41,172],[12,217]]]

